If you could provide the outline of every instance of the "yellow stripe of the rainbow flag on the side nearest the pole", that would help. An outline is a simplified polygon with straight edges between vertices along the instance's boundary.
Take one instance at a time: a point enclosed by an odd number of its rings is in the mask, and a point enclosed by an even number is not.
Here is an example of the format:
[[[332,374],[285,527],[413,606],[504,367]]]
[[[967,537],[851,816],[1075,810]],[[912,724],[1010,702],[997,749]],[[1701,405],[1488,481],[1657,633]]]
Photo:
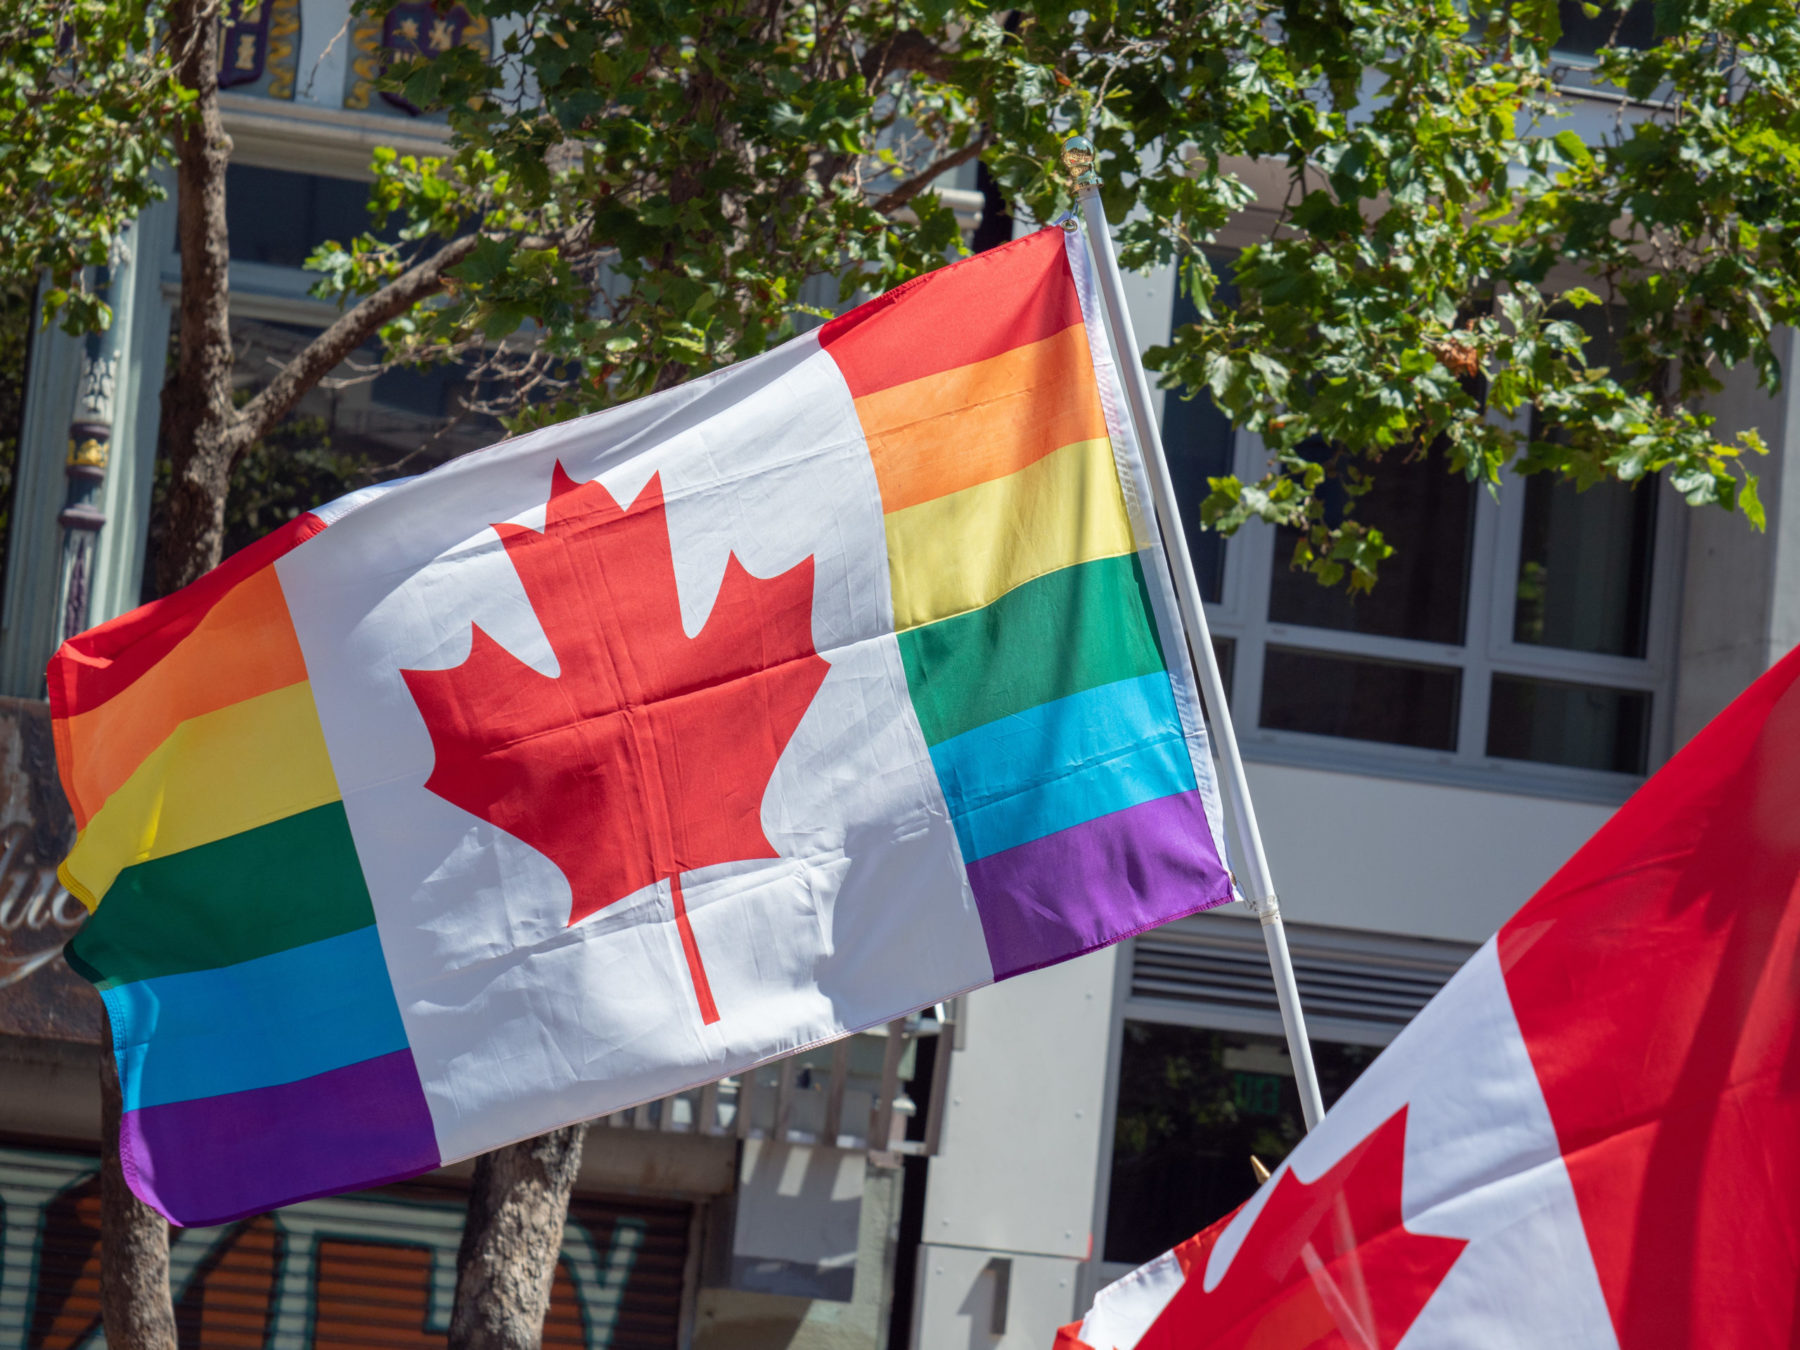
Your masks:
[[[895,630],[981,608],[1031,578],[1136,544],[1109,441],[887,517]]]

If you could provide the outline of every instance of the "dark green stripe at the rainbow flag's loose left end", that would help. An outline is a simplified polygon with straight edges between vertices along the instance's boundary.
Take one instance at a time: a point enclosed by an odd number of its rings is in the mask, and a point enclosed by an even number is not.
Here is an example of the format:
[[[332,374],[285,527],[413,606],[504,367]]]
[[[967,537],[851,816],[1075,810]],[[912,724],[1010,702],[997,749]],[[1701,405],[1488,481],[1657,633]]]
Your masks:
[[[126,868],[65,949],[103,990],[374,923],[344,803]]]

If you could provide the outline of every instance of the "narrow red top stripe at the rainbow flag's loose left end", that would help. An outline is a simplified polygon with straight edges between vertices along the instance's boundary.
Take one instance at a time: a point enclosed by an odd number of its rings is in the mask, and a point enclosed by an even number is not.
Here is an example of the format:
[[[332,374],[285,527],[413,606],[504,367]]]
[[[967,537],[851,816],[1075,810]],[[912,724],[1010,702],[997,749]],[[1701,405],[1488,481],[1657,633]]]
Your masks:
[[[63,643],[45,671],[50,716],[99,707],[162,661],[241,581],[297,549],[326,524],[306,513],[239,549],[198,581]]]

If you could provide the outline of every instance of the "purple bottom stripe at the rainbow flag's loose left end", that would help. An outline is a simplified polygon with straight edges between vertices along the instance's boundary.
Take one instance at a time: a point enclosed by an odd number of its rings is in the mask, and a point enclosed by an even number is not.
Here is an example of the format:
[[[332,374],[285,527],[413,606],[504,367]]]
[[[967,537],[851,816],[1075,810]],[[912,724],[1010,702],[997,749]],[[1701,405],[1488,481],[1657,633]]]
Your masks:
[[[184,1228],[380,1186],[437,1166],[437,1136],[412,1051],[277,1087],[128,1111],[126,1181]]]

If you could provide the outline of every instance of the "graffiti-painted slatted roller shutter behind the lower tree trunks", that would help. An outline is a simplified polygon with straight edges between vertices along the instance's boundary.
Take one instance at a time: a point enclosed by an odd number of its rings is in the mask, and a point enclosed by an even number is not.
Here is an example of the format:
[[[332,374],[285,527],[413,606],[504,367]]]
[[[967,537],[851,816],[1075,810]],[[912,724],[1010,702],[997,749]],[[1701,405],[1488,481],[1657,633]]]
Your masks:
[[[182,1346],[441,1350],[466,1201],[396,1186],[173,1229]],[[576,1199],[544,1345],[673,1346],[688,1206]],[[99,1177],[92,1157],[0,1148],[0,1346],[99,1350]]]

